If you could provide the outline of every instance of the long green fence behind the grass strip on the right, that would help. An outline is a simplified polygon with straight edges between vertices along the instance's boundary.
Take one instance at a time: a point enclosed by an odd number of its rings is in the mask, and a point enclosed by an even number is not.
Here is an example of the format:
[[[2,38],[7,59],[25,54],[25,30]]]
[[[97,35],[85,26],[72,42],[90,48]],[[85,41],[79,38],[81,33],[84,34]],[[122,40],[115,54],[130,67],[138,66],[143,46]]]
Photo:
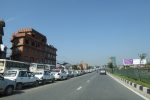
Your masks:
[[[150,84],[150,68],[114,68],[113,70],[109,70],[109,72]]]

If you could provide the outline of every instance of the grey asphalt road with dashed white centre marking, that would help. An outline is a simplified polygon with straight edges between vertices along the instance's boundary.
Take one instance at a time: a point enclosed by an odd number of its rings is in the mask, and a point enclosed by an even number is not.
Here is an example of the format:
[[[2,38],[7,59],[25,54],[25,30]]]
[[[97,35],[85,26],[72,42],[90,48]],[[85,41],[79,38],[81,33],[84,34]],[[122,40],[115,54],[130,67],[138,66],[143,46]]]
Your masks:
[[[96,72],[53,84],[16,91],[0,100],[143,100],[108,75]]]

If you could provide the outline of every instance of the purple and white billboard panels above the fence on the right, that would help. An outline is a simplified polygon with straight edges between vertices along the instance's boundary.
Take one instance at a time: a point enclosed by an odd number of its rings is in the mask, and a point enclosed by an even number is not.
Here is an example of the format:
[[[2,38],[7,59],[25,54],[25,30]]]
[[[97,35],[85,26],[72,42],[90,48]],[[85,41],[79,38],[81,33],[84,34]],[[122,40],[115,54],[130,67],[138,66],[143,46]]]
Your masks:
[[[146,64],[147,60],[143,59],[141,64]],[[123,59],[123,65],[139,65],[140,59]]]

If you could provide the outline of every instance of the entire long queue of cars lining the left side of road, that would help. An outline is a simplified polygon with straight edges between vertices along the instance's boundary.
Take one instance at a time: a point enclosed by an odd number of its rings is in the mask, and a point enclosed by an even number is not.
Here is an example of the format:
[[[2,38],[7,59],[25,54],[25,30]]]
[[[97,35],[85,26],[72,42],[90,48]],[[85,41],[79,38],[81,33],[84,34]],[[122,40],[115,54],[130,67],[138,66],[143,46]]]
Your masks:
[[[92,70],[53,69],[51,71],[39,70],[30,72],[24,69],[10,69],[7,70],[3,76],[0,76],[0,93],[11,95],[14,90],[21,90],[24,86],[37,87],[39,84],[46,84],[47,82],[54,82],[55,80],[65,80],[89,72],[92,72]]]

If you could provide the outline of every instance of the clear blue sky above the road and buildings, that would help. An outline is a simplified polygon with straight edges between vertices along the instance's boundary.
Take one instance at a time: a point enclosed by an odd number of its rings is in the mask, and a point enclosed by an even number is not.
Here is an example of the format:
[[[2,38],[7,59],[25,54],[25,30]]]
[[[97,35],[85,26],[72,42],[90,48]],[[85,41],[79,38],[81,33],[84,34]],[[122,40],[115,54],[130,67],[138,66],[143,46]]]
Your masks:
[[[57,61],[89,65],[117,64],[123,58],[150,56],[150,0],[0,0],[6,22],[3,42],[12,33],[33,28],[58,49]]]

